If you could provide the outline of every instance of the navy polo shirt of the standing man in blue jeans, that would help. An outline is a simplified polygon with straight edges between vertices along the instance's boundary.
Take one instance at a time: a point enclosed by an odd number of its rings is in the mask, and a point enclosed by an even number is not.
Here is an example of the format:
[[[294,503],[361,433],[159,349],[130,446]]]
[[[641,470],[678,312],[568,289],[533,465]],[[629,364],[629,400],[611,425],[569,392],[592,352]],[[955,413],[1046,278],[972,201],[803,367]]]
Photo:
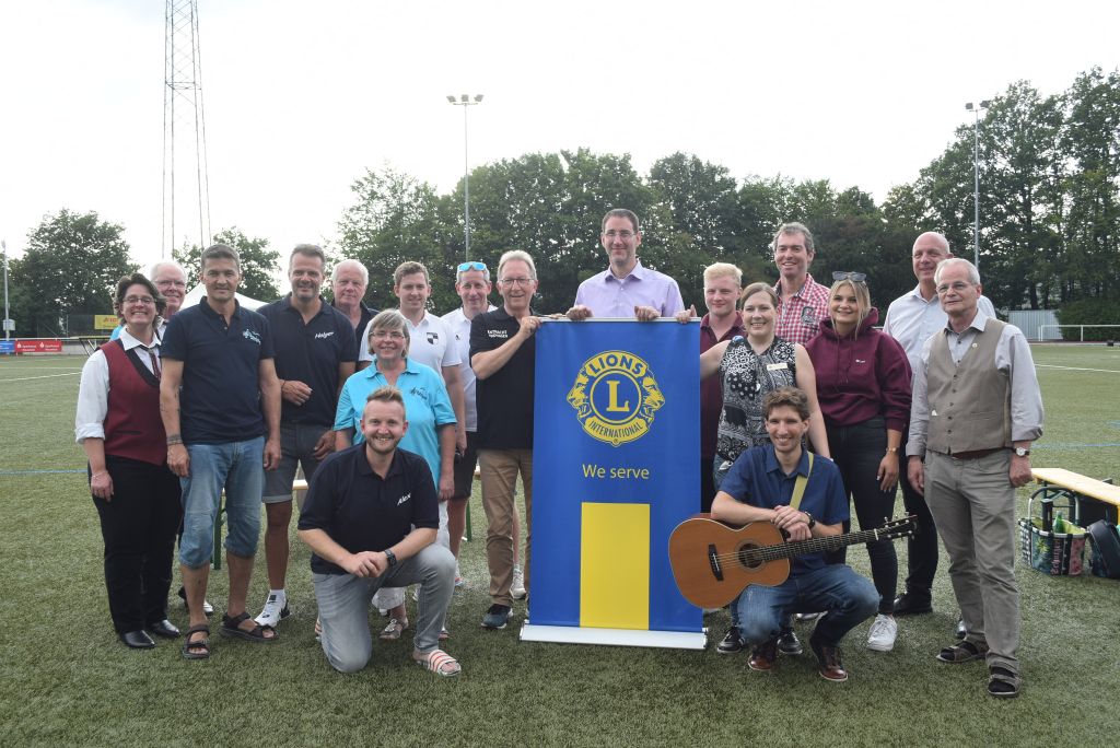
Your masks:
[[[184,442],[224,445],[264,436],[260,364],[272,358],[272,336],[263,317],[237,303],[226,326],[203,297],[171,317],[160,355],[183,362]]]

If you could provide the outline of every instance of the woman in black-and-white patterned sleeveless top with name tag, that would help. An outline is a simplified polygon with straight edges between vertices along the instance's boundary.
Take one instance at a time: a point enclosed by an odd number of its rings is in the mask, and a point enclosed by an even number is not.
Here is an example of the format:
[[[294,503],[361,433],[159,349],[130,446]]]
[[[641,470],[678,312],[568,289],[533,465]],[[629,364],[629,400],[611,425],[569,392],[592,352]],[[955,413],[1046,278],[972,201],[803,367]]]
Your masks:
[[[809,398],[809,440],[813,451],[829,456],[829,443],[816,404],[816,380],[805,349],[777,337],[777,294],[767,283],[752,283],[739,296],[743,300],[743,327],[746,337],[717,343],[700,356],[700,378],[719,374],[724,387],[724,409],[719,414],[716,460],[712,465],[716,489],[739,455],[752,447],[769,443],[763,418],[763,399],[774,390],[796,386]],[[778,647],[786,653],[801,652],[792,628],[782,632]],[[738,605],[731,604],[731,628],[717,649],[739,652]]]

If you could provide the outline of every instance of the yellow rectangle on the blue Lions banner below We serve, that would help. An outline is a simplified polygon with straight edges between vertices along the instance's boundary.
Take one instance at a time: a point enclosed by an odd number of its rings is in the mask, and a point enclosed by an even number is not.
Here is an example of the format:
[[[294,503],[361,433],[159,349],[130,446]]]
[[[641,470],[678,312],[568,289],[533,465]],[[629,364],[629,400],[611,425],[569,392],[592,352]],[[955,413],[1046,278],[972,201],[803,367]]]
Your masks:
[[[579,625],[650,628],[650,505],[584,503]]]

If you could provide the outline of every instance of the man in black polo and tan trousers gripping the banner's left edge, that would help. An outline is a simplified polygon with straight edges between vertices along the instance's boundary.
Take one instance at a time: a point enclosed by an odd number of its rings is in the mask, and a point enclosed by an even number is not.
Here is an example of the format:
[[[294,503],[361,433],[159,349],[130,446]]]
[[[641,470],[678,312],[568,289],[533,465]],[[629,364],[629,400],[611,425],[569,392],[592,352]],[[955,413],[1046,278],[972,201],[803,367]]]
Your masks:
[[[513,605],[513,516],[517,474],[525,494],[525,586],[533,522],[533,377],[541,320],[530,301],[536,292],[533,259],[520,250],[497,264],[501,309],[470,322],[470,366],[477,377],[478,467],[486,511],[486,563],[491,607],[484,628],[505,628]]]

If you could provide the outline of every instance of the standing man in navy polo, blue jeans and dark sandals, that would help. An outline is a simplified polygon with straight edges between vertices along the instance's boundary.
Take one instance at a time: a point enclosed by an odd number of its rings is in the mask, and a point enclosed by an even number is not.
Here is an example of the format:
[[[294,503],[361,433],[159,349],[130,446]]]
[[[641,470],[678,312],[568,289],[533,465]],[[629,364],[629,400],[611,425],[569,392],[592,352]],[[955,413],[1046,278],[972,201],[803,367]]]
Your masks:
[[[241,277],[236,250],[215,244],[203,251],[206,296],[177,314],[164,336],[159,410],[167,464],[183,484],[179,561],[190,616],[183,646],[188,660],[209,656],[203,599],[223,488],[230,600],[222,634],[277,638],[274,628],[249,617],[245,593],[261,529],[261,466],[274,470],[280,461],[280,382],[268,321],[234,297]]]

